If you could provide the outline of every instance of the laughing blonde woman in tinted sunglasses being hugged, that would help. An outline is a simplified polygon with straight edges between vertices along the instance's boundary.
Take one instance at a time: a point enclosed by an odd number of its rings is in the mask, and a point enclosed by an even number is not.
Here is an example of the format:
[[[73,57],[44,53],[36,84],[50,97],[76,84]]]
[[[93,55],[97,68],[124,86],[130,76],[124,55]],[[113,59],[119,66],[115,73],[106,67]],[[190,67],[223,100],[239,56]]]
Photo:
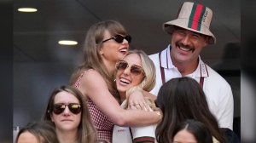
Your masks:
[[[125,58],[116,62],[116,86],[124,109],[128,106],[127,100],[135,89],[150,91],[155,84],[155,68],[152,60],[142,50],[131,50]],[[127,100],[126,100],[127,99]],[[150,112],[156,111],[154,101],[146,98],[150,105]],[[113,127],[113,143],[154,142],[154,125],[144,127]]]

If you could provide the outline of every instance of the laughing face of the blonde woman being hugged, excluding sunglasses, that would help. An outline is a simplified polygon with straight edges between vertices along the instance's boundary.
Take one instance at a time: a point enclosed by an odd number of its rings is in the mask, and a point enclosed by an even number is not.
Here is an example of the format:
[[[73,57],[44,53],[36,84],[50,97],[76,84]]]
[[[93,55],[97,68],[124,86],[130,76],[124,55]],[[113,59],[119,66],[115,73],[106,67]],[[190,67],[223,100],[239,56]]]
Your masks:
[[[143,73],[137,76],[131,73],[132,65],[142,67],[142,60],[138,54],[128,54],[123,60],[128,63],[129,67],[125,71],[119,70],[116,75],[116,85],[121,97],[125,97],[126,90],[140,84],[144,77]]]

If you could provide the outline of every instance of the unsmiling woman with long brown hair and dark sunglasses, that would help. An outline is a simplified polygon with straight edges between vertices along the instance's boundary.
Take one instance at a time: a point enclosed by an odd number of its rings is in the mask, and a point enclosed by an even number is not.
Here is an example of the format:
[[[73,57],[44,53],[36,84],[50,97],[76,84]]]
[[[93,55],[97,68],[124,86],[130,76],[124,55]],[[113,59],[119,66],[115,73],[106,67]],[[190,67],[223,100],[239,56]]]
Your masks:
[[[96,143],[96,129],[83,94],[72,86],[61,86],[50,94],[43,119],[55,124],[61,143]]]

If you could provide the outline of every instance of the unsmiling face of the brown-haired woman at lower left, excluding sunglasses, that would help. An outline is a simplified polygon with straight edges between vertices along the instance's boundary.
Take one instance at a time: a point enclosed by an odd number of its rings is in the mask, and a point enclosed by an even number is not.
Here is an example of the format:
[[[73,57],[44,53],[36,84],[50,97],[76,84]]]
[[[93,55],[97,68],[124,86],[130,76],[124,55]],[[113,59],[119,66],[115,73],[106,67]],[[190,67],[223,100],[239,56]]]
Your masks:
[[[54,104],[56,103],[79,103],[79,100],[71,93],[67,91],[61,91],[60,93],[55,95]],[[54,112],[51,113],[51,120],[55,123],[56,131],[70,131],[76,130],[79,127],[79,123],[81,120],[81,112],[79,114],[73,114],[66,106],[64,112],[56,115]]]

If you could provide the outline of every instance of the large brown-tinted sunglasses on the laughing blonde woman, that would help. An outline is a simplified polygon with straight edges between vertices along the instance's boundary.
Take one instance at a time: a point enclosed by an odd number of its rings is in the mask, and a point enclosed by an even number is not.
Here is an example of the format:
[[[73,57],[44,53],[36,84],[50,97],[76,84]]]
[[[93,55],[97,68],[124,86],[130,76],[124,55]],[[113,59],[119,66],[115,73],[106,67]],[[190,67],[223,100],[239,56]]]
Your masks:
[[[128,65],[127,61],[125,61],[125,60],[118,60],[115,64],[115,68],[119,71],[125,71],[125,69],[128,67],[129,67],[129,65]],[[143,72],[143,67],[137,66],[137,65],[132,65],[130,72],[132,75],[138,76]]]

